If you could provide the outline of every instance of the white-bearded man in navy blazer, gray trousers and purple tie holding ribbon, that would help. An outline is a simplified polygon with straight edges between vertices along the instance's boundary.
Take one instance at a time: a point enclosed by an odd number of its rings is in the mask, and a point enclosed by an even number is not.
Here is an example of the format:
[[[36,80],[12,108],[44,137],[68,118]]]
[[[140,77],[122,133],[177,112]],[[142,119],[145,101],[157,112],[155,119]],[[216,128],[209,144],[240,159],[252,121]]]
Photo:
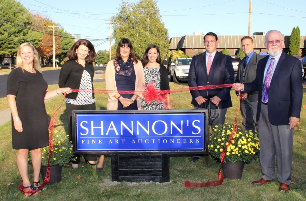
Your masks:
[[[263,185],[275,179],[276,155],[278,190],[287,192],[291,184],[293,128],[299,123],[303,80],[300,60],[282,51],[282,41],[279,31],[268,31],[264,45],[270,56],[258,62],[254,81],[235,83],[234,89],[259,92],[256,120],[263,177],[252,184]]]

